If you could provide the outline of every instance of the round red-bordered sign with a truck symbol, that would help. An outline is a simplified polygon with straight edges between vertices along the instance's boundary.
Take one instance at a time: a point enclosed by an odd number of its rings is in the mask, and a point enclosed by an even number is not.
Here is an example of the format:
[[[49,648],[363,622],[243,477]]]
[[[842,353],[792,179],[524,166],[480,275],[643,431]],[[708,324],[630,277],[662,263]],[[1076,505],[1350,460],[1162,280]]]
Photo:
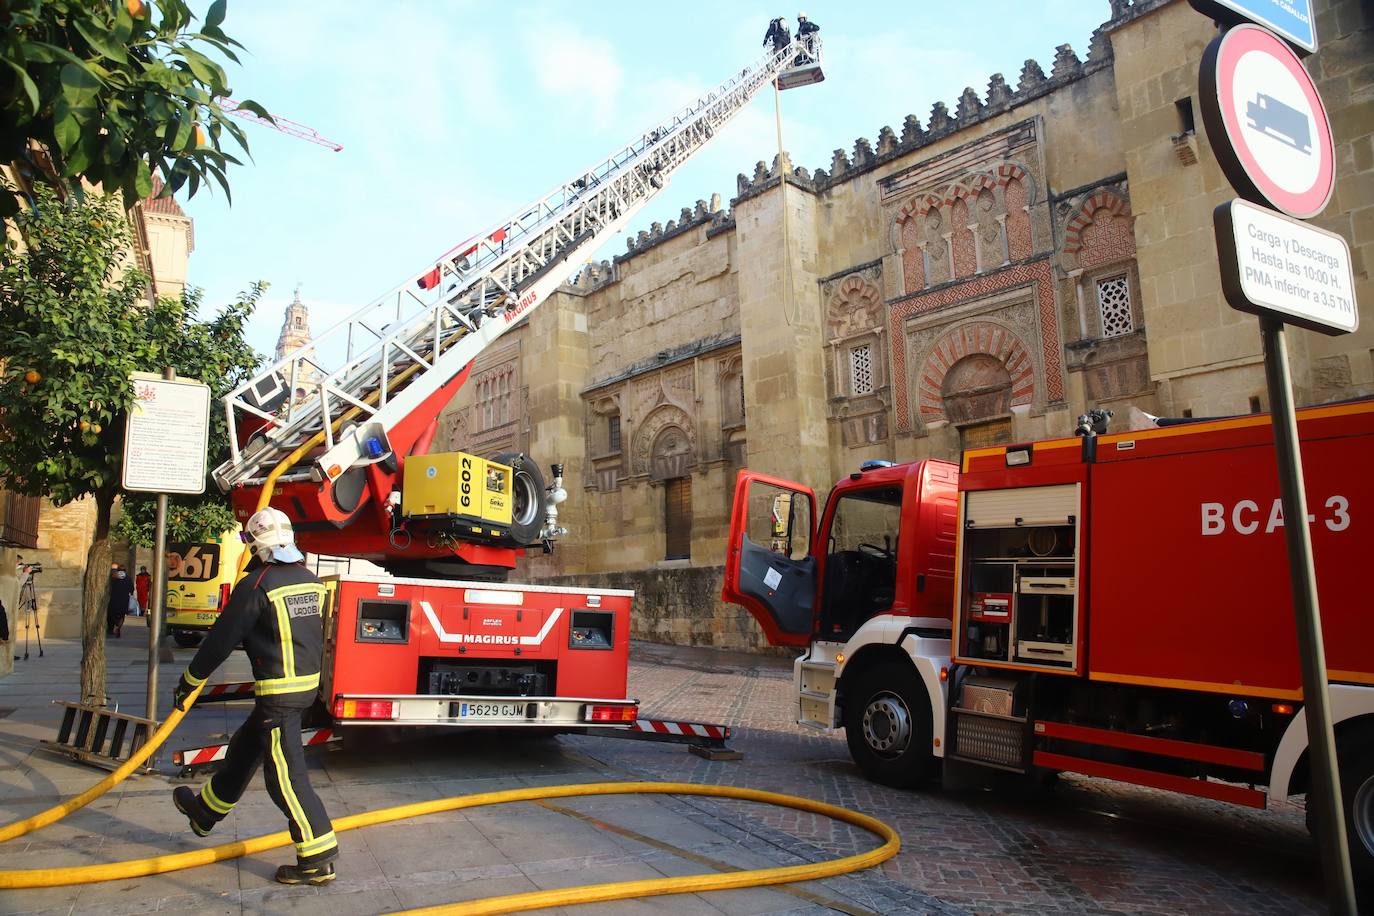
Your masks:
[[[1202,124],[1237,192],[1289,216],[1320,213],[1336,185],[1331,122],[1312,77],[1268,29],[1227,29],[1202,54]]]

